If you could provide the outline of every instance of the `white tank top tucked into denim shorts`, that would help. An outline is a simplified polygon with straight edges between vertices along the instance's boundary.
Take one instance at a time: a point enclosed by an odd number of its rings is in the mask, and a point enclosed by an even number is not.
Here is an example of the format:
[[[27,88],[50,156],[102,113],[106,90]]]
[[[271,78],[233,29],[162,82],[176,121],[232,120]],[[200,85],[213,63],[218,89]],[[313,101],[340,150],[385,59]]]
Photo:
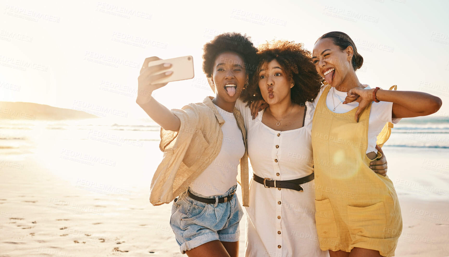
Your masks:
[[[225,120],[221,126],[223,143],[220,153],[190,185],[190,190],[203,196],[223,195],[237,184],[238,165],[245,154],[242,131],[237,126],[234,114],[216,106]]]

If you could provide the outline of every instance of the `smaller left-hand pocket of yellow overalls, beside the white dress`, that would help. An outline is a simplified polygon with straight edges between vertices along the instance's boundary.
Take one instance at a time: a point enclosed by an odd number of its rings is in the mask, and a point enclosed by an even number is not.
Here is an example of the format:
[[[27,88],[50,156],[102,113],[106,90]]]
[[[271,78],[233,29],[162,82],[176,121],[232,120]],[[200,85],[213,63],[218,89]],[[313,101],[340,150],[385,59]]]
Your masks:
[[[337,223],[335,222],[334,210],[329,199],[315,200],[315,220],[317,232],[320,237],[337,237]]]

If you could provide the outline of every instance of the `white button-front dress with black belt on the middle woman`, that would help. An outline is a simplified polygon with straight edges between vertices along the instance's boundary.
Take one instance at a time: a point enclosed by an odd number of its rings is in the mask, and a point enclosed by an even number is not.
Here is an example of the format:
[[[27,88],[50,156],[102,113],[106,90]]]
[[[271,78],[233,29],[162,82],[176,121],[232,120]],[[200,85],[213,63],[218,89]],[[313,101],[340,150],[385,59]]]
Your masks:
[[[313,173],[310,131],[314,107],[306,103],[304,126],[275,131],[262,123],[264,110],[252,120],[251,110],[240,100],[248,138],[248,156],[254,174],[290,180]],[[250,174],[251,177],[251,174]],[[315,183],[302,184],[304,192],[266,188],[251,180],[247,210],[246,257],[325,257],[315,226]]]

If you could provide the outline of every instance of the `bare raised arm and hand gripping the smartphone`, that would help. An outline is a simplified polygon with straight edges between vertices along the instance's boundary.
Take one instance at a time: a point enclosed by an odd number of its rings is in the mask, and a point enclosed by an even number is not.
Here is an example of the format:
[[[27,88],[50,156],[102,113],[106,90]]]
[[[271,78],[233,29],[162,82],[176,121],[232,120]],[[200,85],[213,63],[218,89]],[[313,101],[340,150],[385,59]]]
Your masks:
[[[179,118],[176,117],[176,115],[173,114],[167,107],[161,105],[158,101],[151,97],[151,93],[154,90],[167,85],[167,83],[152,84],[152,82],[160,78],[168,77],[172,74],[172,71],[168,71],[154,75],[155,73],[162,70],[167,70],[170,66],[172,66],[170,63],[163,63],[148,67],[148,63],[150,61],[157,60],[161,59],[158,57],[148,57],[142,65],[140,75],[137,78],[139,86],[137,90],[136,103],[163,129],[177,132],[179,131],[181,125]]]

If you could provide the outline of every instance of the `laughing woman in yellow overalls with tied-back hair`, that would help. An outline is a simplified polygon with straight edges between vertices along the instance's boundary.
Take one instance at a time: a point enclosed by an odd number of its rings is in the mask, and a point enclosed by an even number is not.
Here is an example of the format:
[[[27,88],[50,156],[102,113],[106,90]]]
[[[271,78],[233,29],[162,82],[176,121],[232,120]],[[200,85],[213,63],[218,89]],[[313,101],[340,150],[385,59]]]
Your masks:
[[[435,113],[441,100],[362,85],[355,70],[363,58],[343,32],[321,36],[313,62],[329,84],[314,100],[312,128],[320,248],[329,249],[330,257],[394,256],[402,231],[399,200],[388,176],[370,169],[370,161],[380,156],[370,149],[381,131],[378,139],[389,135],[392,124],[382,130],[385,123]]]

